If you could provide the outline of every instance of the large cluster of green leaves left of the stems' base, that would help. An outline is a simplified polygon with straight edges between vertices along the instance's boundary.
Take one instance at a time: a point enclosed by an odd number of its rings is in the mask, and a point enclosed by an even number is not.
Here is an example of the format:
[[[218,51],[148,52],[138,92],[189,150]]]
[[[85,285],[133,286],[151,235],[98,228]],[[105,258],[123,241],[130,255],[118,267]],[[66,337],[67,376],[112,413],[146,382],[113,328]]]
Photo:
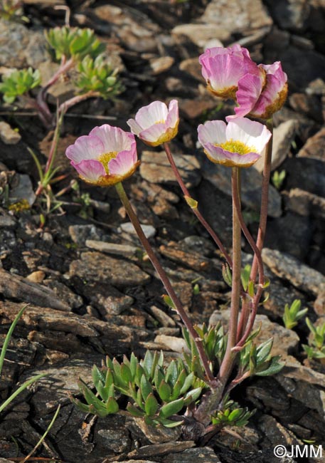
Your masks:
[[[152,354],[149,350],[143,360],[132,353],[119,363],[107,358],[102,368],[94,366],[92,380],[96,394],[82,380],[80,392],[87,403],[73,398],[83,412],[105,417],[119,410],[118,395],[129,397],[127,411],[134,417],[142,417],[149,425],[175,427],[181,424],[177,414],[200,397],[205,383],[193,372],[189,373],[181,359],[164,366],[163,353]]]

